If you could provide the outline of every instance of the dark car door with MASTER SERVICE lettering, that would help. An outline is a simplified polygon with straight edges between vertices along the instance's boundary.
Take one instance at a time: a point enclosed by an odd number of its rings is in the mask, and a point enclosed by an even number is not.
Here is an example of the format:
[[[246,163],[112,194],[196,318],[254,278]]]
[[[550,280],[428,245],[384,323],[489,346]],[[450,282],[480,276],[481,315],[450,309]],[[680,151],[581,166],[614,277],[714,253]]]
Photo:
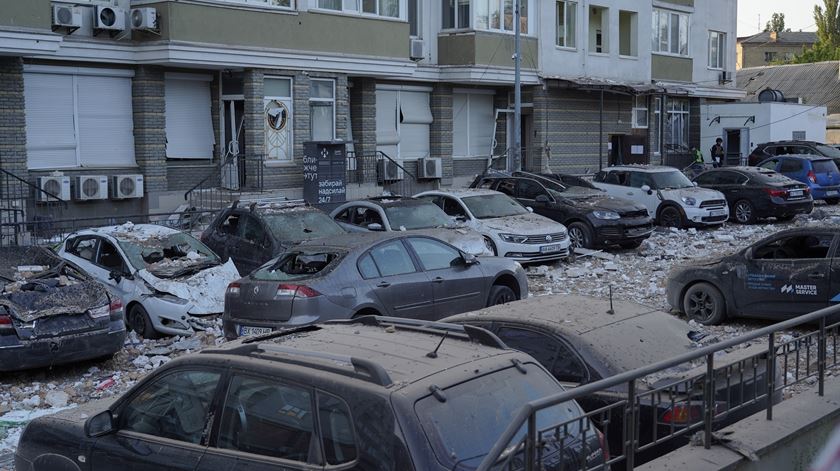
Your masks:
[[[744,315],[789,318],[821,309],[831,291],[835,236],[827,231],[784,234],[745,253],[735,303]]]

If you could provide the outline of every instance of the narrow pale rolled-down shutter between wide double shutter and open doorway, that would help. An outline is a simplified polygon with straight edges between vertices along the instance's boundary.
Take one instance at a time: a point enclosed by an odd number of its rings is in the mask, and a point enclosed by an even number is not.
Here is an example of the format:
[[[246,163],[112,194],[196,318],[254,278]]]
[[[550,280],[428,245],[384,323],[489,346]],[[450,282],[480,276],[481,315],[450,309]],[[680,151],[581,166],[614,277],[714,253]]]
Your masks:
[[[210,76],[167,74],[166,157],[211,159],[213,120],[210,104]]]

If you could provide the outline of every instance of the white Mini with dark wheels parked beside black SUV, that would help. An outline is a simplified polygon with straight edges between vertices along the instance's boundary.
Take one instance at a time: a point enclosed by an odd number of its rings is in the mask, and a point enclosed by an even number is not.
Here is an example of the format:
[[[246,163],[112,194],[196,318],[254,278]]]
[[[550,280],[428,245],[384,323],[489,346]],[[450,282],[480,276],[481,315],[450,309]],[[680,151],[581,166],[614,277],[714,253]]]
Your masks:
[[[729,219],[729,206],[723,193],[698,188],[673,167],[608,167],[595,174],[593,185],[611,196],[645,206],[661,226],[708,227],[723,224]]]

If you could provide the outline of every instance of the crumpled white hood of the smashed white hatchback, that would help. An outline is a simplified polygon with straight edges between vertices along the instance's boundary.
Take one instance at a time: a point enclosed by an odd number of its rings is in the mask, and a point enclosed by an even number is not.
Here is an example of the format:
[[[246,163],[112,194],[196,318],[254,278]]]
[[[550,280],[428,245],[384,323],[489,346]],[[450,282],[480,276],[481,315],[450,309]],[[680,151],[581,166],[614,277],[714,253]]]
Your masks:
[[[137,274],[157,291],[187,300],[189,313],[197,315],[224,311],[227,285],[240,278],[232,260],[181,278],[158,278],[145,269]]]

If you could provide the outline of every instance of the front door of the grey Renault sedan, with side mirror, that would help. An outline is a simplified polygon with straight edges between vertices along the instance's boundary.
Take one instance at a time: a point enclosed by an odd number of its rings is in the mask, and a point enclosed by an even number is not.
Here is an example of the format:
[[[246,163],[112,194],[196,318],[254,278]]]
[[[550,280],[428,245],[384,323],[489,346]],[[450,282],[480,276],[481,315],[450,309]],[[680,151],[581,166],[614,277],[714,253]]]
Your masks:
[[[429,237],[405,240],[431,280],[435,318],[487,306],[492,280],[477,263],[467,264],[458,249]]]

